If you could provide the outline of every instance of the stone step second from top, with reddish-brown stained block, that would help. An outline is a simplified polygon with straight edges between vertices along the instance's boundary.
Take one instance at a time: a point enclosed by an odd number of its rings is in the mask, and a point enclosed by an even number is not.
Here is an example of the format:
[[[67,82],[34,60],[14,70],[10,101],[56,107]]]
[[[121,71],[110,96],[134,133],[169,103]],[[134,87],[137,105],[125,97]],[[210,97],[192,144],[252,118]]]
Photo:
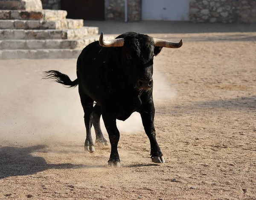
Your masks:
[[[0,10],[0,20],[64,20],[67,11],[65,10]]]

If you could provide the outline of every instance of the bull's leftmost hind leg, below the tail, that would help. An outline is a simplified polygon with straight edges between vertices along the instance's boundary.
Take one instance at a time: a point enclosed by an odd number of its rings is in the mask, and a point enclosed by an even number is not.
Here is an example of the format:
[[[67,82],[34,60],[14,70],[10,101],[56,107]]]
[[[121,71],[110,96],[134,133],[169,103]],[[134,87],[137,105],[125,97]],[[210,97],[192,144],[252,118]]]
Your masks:
[[[91,135],[92,119],[93,119],[93,99],[84,94],[79,87],[79,95],[81,99],[81,104],[84,109],[84,125],[86,128],[86,139],[84,142],[84,150],[90,151],[91,153],[95,151],[93,145],[93,139]]]

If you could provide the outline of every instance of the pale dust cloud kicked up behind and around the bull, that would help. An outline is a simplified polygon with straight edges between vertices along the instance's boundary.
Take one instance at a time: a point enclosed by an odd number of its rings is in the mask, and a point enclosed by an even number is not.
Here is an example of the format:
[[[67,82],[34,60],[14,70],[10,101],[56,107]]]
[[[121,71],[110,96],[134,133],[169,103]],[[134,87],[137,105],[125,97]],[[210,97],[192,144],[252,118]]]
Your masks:
[[[42,71],[60,70],[76,78],[76,59],[0,61],[0,145],[54,145],[85,139],[78,88],[41,80]],[[173,99],[175,90],[154,71],[154,102]],[[108,138],[101,118],[102,132]],[[120,133],[143,131],[140,114],[117,121]],[[93,139],[95,139],[92,128]]]

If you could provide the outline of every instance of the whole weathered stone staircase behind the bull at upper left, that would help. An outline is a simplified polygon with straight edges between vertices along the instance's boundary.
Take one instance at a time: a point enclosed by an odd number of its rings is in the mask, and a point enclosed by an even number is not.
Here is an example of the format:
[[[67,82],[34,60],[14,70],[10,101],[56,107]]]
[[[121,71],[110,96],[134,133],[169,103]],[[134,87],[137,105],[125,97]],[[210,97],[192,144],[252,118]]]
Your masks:
[[[85,46],[99,40],[98,27],[66,19],[66,11],[41,7],[41,0],[0,0],[0,59],[78,58]]]

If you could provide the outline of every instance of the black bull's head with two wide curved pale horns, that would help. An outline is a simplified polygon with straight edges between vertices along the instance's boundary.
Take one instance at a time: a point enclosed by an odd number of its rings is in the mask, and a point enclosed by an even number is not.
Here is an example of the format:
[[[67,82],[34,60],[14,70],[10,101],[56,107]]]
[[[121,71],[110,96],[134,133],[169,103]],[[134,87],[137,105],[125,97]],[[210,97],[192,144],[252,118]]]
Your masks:
[[[180,48],[183,41],[170,42],[151,38],[135,32],[119,35],[116,39],[104,41],[103,32],[99,37],[99,44],[103,47],[123,47],[122,64],[137,90],[149,90],[153,87],[153,58],[163,47]]]

